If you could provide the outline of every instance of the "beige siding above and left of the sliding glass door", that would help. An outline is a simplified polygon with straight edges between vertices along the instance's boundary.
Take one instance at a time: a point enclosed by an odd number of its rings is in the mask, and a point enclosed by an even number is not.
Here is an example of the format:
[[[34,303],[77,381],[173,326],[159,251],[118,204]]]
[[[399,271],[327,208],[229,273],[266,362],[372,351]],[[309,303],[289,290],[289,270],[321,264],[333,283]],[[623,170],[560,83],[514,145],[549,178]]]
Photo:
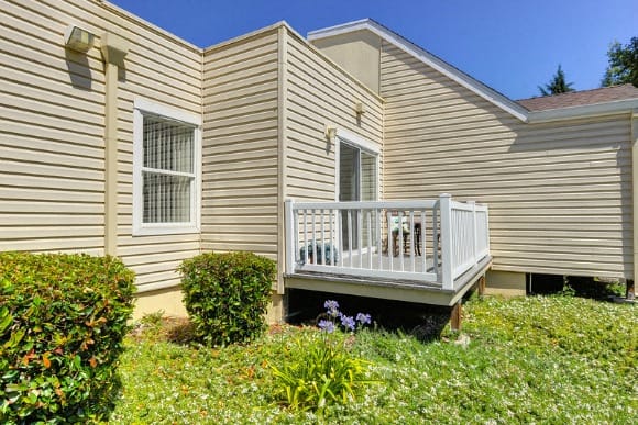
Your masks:
[[[381,98],[300,40],[288,35],[286,91],[286,195],[334,201],[334,143],[327,125],[354,133],[378,146],[383,164]],[[355,102],[366,112],[358,119]]]

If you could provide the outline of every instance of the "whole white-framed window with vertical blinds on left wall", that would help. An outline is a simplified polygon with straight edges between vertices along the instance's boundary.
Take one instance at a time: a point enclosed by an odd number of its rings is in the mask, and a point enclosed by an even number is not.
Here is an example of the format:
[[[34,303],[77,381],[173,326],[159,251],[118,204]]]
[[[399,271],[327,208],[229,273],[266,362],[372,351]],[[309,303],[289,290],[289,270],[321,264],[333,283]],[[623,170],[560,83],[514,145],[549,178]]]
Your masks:
[[[135,100],[133,235],[199,232],[198,115]]]

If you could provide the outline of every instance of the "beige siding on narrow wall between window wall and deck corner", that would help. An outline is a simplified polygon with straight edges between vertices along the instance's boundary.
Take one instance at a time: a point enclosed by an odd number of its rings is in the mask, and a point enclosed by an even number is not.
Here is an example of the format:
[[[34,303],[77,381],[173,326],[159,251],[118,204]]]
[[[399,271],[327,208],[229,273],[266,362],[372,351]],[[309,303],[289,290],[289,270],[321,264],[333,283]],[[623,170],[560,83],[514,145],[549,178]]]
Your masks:
[[[204,250],[277,259],[277,29],[204,55]]]

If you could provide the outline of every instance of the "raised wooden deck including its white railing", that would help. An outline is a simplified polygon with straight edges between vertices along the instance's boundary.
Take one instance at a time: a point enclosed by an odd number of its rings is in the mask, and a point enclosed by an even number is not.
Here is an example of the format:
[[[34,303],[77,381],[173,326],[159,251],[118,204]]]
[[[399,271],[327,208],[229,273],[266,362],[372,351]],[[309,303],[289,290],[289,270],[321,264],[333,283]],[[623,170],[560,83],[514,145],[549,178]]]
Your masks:
[[[492,265],[487,206],[449,194],[421,201],[288,200],[286,235],[287,288],[454,305]],[[353,246],[363,249],[348,248]]]

